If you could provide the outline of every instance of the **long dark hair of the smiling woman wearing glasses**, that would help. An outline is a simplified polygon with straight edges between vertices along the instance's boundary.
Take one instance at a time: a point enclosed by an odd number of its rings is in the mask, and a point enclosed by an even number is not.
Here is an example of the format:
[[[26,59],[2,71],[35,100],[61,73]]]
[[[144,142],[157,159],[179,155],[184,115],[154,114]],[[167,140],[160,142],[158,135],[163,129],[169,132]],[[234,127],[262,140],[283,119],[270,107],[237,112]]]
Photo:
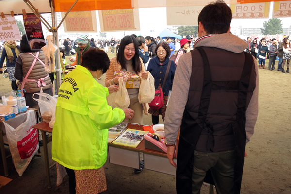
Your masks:
[[[135,54],[132,58],[132,68],[136,73],[139,73],[142,71],[142,68],[141,68],[141,61],[138,54],[138,43],[134,37],[127,35],[121,39],[116,59],[117,59],[117,62],[121,65],[122,69],[127,70],[126,59],[124,58],[124,49],[126,45],[131,44],[131,43],[134,44],[134,49],[135,49]]]

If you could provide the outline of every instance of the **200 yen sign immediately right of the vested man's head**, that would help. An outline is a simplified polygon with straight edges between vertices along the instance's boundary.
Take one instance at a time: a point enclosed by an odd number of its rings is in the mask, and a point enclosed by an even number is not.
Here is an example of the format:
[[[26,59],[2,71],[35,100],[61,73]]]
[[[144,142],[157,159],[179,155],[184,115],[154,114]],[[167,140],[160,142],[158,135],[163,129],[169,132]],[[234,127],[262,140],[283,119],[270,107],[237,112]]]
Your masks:
[[[270,2],[230,5],[232,19],[268,19]]]

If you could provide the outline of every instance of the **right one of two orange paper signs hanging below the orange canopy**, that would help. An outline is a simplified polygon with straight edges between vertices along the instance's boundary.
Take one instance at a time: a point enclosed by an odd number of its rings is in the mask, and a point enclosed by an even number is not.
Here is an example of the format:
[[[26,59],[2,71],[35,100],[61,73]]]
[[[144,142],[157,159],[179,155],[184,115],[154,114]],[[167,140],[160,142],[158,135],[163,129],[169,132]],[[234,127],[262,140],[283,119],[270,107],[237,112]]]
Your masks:
[[[140,30],[138,9],[99,10],[102,32]]]

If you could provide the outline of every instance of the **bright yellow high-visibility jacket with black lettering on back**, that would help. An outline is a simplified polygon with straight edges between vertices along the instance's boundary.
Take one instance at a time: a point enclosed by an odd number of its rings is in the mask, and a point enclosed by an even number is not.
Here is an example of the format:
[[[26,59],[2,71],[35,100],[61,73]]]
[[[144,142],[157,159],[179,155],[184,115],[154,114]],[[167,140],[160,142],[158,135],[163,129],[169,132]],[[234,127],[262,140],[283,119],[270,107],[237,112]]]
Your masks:
[[[108,95],[108,88],[80,65],[65,76],[59,88],[52,133],[53,160],[73,170],[103,166],[108,128],[125,117],[123,110],[108,105]]]

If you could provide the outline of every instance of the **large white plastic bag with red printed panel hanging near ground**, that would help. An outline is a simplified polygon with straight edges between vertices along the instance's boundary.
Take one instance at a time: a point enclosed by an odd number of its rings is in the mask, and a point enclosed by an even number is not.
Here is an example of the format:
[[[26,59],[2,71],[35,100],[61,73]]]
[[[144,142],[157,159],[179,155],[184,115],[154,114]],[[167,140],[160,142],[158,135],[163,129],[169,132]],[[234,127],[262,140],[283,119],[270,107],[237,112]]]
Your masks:
[[[37,130],[32,128],[36,124],[35,112],[28,110],[3,123],[14,166],[19,176],[22,176],[39,148]]]

